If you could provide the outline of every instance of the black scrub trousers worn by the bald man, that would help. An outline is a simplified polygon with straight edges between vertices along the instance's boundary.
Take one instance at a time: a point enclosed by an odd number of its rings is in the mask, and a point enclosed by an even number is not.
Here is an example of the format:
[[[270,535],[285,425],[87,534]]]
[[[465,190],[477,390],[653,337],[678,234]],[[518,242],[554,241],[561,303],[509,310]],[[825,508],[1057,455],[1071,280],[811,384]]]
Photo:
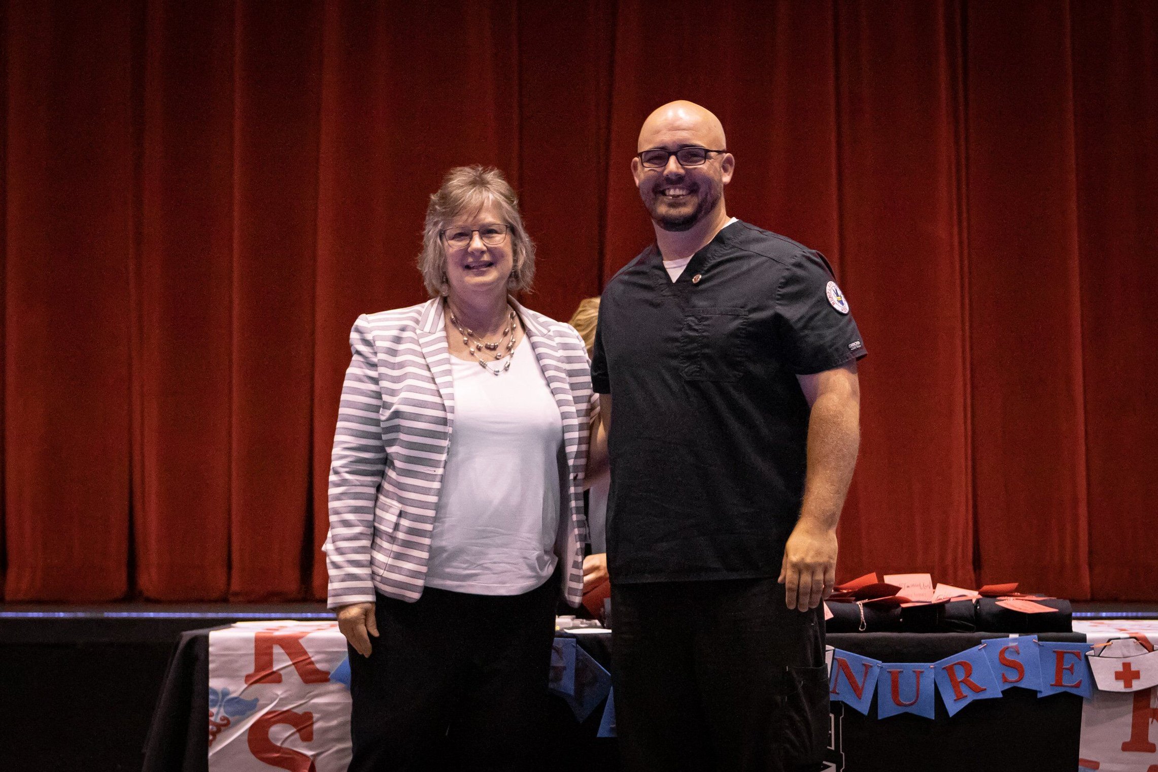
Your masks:
[[[819,770],[828,744],[820,609],[776,579],[615,584],[623,772]]]

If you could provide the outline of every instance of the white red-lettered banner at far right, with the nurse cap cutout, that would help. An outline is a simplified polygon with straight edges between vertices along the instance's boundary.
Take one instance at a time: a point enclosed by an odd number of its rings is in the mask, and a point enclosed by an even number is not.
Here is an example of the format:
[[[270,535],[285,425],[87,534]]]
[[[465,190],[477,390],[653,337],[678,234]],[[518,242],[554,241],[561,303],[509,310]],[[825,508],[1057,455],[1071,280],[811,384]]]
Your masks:
[[[1075,622],[1073,632],[1093,645],[1087,659],[1098,684],[1082,706],[1078,770],[1158,769],[1158,620]]]

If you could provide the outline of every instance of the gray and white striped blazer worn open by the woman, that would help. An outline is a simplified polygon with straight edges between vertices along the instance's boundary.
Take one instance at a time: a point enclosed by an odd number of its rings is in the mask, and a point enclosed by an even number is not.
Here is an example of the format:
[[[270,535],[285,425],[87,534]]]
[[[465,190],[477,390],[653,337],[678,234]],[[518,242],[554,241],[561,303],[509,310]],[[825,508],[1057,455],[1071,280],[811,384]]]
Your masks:
[[[559,564],[563,594],[582,598],[587,542],[584,468],[593,410],[582,338],[513,299],[563,417],[570,523]],[[331,609],[383,595],[417,601],[426,583],[431,531],[454,433],[454,382],[442,303],[358,317],[342,387],[330,464],[330,532],[322,549]]]

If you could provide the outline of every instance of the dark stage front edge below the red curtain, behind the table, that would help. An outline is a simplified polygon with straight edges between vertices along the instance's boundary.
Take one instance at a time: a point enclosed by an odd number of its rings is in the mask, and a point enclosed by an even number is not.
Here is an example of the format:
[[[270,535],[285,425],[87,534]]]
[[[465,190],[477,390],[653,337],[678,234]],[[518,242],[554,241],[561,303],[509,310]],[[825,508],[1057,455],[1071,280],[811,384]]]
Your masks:
[[[332,618],[322,603],[0,604],[0,769],[139,772],[182,632]],[[1158,619],[1158,603],[1075,603],[1073,618]]]

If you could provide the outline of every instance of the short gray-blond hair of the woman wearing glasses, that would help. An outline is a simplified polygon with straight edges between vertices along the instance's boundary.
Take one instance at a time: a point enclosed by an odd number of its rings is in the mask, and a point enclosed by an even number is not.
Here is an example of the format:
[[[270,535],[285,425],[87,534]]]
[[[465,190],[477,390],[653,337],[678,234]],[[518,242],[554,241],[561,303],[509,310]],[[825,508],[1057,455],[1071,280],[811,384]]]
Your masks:
[[[455,167],[446,174],[442,186],[431,196],[426,207],[426,227],[423,231],[423,251],[418,255],[418,270],[431,296],[439,294],[446,275],[446,247],[441,230],[452,220],[494,204],[503,220],[511,227],[511,247],[514,267],[511,270],[511,289],[528,292],[535,279],[535,244],[522,226],[519,197],[514,194],[503,172],[493,167],[474,164]]]

